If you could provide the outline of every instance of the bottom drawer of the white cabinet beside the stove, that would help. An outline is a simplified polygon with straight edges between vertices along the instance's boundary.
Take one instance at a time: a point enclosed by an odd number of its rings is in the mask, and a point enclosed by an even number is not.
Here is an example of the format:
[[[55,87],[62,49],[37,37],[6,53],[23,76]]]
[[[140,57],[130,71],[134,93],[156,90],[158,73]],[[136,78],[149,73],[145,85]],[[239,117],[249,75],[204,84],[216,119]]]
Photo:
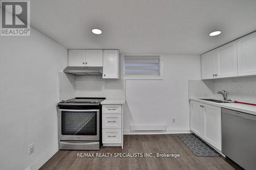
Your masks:
[[[122,133],[121,129],[103,129],[102,143],[121,143]]]

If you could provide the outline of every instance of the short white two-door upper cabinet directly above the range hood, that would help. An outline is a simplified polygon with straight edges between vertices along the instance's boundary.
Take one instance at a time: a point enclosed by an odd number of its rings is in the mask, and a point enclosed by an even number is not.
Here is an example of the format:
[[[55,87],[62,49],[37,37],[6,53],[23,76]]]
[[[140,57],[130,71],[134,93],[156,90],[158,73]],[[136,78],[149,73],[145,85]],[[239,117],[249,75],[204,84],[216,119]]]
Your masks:
[[[102,67],[102,50],[69,50],[69,66]]]

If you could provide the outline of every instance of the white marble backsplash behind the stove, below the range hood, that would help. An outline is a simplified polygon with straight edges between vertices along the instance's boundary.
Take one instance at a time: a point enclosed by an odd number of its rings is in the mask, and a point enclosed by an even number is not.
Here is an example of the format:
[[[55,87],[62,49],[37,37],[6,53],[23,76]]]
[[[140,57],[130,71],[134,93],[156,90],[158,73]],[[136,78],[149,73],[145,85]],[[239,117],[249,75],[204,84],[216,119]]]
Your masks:
[[[59,72],[59,101],[75,97],[125,99],[125,82]]]

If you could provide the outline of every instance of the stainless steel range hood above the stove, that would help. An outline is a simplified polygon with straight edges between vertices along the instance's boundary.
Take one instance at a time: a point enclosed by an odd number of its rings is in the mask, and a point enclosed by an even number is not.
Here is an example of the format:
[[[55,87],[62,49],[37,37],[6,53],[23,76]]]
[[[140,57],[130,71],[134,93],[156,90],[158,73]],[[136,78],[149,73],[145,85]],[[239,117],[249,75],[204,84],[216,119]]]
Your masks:
[[[70,67],[64,69],[65,73],[81,76],[102,76],[102,67]]]

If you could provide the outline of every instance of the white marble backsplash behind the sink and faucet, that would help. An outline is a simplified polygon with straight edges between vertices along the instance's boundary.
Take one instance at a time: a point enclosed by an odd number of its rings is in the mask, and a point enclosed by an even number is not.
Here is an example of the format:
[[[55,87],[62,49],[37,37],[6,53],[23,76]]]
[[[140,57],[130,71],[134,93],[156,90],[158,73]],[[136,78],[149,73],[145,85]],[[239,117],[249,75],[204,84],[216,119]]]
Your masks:
[[[190,98],[223,100],[217,92],[227,91],[228,99],[256,103],[256,77],[225,78],[218,80],[189,80]]]

